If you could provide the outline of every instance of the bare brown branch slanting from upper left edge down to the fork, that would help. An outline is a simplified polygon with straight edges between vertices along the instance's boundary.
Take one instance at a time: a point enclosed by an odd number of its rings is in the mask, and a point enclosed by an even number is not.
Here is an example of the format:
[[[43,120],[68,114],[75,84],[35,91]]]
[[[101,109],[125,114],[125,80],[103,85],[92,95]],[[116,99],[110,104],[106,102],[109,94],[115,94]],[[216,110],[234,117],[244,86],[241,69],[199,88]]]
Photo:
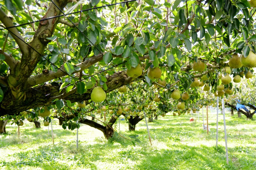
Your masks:
[[[0,20],[1,22],[5,25],[5,27],[13,27],[13,28],[8,28],[7,30],[9,33],[12,35],[12,37],[15,39],[16,43],[20,47],[20,52],[24,54],[28,54],[28,45],[25,43],[25,40],[23,37],[20,35],[19,31],[14,27],[13,22],[11,18],[9,18],[5,12],[0,8]],[[23,41],[22,41],[23,40]]]

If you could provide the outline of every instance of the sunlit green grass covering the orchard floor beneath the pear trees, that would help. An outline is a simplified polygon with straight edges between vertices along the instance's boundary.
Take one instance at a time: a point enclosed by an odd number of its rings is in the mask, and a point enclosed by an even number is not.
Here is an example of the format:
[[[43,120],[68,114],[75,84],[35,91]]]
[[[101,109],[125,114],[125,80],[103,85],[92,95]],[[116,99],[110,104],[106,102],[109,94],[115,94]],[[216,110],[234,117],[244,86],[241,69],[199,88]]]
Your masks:
[[[206,122],[206,111],[204,111]],[[148,123],[150,146],[145,120],[129,132],[125,121],[120,123],[124,137],[139,135],[141,143],[115,135],[104,139],[103,133],[86,125],[79,128],[79,147],[76,130],[64,130],[53,120],[54,145],[51,129],[36,129],[26,122],[20,127],[7,125],[7,134],[0,135],[0,169],[256,169],[256,123],[237,118],[226,112],[229,164],[226,163],[223,115],[219,114],[218,148],[216,148],[216,112],[209,112],[207,135],[203,130],[202,114],[198,122],[189,122],[190,114],[158,117]],[[114,125],[119,131],[119,124]]]

